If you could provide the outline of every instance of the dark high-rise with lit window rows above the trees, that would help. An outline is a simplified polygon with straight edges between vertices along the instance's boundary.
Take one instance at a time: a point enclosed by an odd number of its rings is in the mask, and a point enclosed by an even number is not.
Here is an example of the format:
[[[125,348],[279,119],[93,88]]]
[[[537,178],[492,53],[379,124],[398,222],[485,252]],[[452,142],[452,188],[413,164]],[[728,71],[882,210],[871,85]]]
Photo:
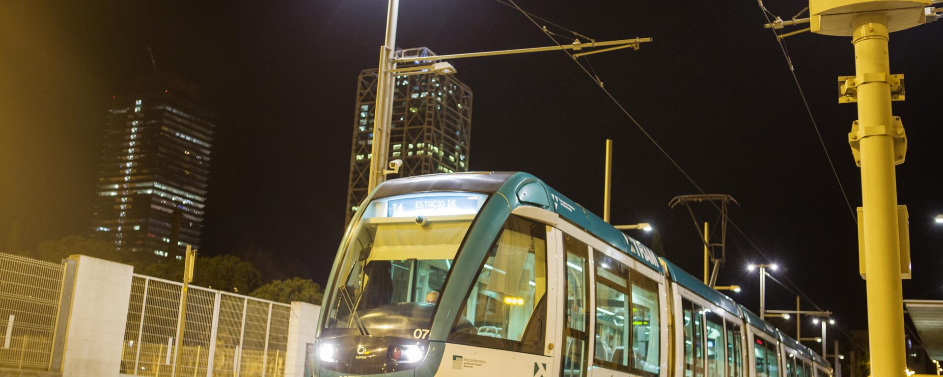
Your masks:
[[[198,247],[207,200],[212,112],[196,84],[167,72],[113,97],[94,201],[94,235],[142,258]]]

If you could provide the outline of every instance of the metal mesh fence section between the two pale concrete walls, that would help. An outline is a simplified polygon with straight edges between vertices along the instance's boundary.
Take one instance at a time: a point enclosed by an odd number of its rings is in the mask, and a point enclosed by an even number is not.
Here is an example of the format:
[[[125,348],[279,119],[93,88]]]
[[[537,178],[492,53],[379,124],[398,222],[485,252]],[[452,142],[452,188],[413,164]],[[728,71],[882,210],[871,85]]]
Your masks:
[[[124,374],[285,375],[290,305],[190,286],[179,363],[174,360],[182,284],[135,275],[124,331]]]

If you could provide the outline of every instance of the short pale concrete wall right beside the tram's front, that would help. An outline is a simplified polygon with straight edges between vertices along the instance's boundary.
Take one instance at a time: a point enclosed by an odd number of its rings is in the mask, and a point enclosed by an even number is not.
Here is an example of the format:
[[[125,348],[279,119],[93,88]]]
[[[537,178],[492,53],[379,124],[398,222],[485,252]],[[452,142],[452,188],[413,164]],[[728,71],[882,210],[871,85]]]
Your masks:
[[[302,377],[305,373],[305,353],[308,343],[314,343],[318,332],[321,306],[311,303],[291,303],[289,345],[285,352],[285,377]]]

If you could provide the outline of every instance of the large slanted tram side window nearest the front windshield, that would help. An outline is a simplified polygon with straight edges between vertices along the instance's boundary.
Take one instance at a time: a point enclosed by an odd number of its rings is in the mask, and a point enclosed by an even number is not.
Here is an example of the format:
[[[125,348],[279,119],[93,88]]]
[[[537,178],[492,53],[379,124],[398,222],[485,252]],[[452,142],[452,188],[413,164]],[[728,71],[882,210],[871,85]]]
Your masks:
[[[488,251],[450,341],[543,354],[546,226],[511,216]]]

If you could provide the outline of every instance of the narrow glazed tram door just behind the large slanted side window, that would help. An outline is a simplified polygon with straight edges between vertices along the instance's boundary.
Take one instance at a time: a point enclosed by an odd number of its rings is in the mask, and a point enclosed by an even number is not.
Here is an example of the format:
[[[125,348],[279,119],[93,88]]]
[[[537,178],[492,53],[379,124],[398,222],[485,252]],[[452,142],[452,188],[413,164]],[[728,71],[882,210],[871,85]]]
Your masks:
[[[561,232],[563,246],[563,333],[559,370],[561,377],[586,377],[589,359],[589,260],[587,244]],[[560,243],[557,243],[558,245]]]

